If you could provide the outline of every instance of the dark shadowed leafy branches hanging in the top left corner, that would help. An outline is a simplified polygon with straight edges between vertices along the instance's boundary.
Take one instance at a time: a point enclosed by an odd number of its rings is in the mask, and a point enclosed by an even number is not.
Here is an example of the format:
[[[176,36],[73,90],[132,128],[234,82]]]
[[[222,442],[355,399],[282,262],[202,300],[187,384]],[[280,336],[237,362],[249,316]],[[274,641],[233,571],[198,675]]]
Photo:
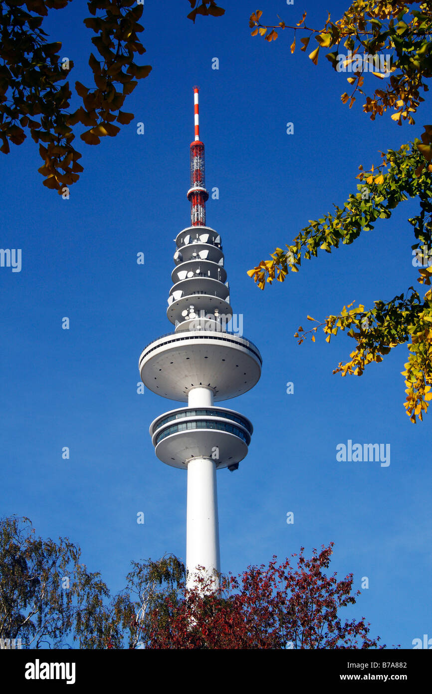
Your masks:
[[[61,58],[61,42],[48,42],[42,28],[49,10],[62,10],[69,1],[6,0],[0,6],[0,151],[8,154],[10,142],[22,144],[29,133],[40,145],[44,185],[60,194],[83,171],[72,144],[74,127],[88,128],[80,135],[87,144],[114,137],[120,130],[114,121],[123,125],[133,118],[121,111],[126,97],[151,70],[135,62],[146,50],[138,37],[144,31],[138,22],[143,6],[133,0],[90,0],[91,16],[83,21],[96,34],[92,44],[99,59],[90,53],[94,84],[75,83],[82,103],[70,110],[73,92],[66,80],[74,61]]]

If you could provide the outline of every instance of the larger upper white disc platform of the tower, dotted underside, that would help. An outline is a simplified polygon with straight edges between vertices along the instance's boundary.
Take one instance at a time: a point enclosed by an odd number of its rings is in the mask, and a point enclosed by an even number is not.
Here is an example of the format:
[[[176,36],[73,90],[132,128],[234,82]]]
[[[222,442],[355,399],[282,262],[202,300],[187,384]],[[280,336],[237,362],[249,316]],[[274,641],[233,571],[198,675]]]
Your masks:
[[[202,386],[218,402],[254,387],[261,364],[258,348],[245,337],[185,330],[150,342],[139,357],[139,372],[146,388],[170,400],[187,402],[189,391]]]

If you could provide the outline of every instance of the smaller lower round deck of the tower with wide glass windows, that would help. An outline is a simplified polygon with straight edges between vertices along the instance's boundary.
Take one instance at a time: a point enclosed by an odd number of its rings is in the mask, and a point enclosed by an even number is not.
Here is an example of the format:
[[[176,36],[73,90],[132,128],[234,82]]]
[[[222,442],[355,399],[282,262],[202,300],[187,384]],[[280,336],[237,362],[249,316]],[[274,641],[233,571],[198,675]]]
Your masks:
[[[248,418],[224,407],[178,408],[150,425],[159,460],[187,468],[193,458],[211,458],[216,468],[236,466],[248,453],[253,431]]]

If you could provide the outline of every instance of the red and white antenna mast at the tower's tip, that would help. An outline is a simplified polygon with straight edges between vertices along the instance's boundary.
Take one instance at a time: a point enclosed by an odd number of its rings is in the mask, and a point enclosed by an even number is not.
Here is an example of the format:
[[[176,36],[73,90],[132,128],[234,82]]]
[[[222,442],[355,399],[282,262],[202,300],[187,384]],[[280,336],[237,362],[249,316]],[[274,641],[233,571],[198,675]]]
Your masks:
[[[195,113],[195,139],[191,142],[191,187],[187,199],[191,203],[191,226],[205,226],[205,203],[209,194],[205,189],[204,142],[200,140],[199,87],[193,87]]]

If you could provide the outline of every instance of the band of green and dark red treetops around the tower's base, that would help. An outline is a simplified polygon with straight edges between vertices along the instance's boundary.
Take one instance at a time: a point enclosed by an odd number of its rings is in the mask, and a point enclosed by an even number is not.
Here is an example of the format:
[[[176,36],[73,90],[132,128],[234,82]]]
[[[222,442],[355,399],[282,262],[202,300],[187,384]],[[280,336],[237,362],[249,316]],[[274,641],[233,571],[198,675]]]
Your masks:
[[[332,547],[221,577],[219,593],[211,579],[188,590],[174,555],[132,561],[126,588],[111,595],[78,545],[36,536],[28,518],[0,518],[0,638],[36,649],[385,648],[364,618],[341,618],[361,591],[352,574],[327,575]]]

